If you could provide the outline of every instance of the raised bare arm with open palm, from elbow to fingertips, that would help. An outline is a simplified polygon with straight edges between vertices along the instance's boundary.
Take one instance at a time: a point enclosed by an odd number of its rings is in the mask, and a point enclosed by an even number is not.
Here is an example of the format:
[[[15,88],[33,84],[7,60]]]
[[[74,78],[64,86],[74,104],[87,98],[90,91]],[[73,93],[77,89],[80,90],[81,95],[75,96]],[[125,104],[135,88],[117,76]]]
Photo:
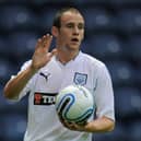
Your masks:
[[[55,52],[48,52],[51,39],[52,36],[47,34],[37,40],[31,66],[5,84],[3,92],[7,98],[17,97],[28,80],[50,60]]]

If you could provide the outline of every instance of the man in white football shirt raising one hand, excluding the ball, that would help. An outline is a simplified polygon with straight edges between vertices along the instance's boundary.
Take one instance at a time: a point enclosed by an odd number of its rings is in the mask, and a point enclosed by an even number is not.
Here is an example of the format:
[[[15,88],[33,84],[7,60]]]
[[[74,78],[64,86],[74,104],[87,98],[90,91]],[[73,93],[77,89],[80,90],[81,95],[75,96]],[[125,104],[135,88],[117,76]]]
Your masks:
[[[84,37],[82,14],[74,8],[60,10],[51,34],[37,40],[32,60],[4,86],[4,96],[10,99],[20,101],[30,93],[24,141],[91,141],[93,132],[111,131],[115,126],[111,80],[103,62],[80,51]],[[56,48],[48,52],[52,36]],[[60,122],[56,114],[55,96],[70,84],[81,84],[94,96],[96,117],[84,126]]]

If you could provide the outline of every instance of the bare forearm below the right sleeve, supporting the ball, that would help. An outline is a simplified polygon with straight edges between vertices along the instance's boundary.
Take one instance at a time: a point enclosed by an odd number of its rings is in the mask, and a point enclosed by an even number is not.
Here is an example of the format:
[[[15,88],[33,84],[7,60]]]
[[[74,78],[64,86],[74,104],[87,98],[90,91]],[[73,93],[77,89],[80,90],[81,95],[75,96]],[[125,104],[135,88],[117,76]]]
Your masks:
[[[106,118],[106,117],[102,117],[98,119],[95,119],[91,122],[89,122],[85,126],[85,131],[87,132],[106,132],[106,131],[111,131],[115,127],[115,121]]]

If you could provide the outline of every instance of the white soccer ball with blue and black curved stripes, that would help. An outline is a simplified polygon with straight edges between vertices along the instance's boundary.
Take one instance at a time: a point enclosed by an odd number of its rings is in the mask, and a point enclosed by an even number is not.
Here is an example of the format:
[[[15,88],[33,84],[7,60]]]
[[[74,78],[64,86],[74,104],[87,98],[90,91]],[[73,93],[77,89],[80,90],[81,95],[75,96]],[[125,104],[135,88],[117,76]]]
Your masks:
[[[93,96],[84,86],[69,85],[57,95],[56,110],[67,121],[84,124],[94,111]]]

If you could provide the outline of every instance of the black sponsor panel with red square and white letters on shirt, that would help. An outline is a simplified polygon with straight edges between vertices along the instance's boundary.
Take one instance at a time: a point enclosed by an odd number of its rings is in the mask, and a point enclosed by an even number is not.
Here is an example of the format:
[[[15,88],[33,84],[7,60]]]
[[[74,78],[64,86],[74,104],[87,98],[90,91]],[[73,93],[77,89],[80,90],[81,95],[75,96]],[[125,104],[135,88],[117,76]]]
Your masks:
[[[34,93],[34,105],[54,105],[58,93]]]

